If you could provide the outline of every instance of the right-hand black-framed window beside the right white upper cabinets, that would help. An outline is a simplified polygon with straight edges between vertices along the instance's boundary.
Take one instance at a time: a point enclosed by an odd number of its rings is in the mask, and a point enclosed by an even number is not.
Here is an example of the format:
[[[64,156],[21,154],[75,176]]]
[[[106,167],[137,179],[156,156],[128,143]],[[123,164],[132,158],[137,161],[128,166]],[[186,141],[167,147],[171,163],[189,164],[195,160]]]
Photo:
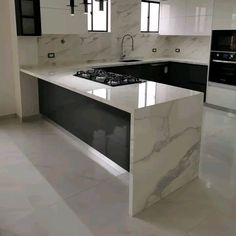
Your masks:
[[[141,32],[158,33],[160,3],[154,0],[141,1]]]

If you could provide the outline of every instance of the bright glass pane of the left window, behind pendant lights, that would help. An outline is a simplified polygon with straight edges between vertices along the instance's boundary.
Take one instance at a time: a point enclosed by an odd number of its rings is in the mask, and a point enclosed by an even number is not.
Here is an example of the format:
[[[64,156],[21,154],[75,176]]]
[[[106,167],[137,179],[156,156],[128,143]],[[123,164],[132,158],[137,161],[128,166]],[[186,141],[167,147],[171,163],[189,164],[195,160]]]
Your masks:
[[[100,11],[99,1],[93,0],[93,30],[107,31],[107,1],[104,3],[103,11]]]

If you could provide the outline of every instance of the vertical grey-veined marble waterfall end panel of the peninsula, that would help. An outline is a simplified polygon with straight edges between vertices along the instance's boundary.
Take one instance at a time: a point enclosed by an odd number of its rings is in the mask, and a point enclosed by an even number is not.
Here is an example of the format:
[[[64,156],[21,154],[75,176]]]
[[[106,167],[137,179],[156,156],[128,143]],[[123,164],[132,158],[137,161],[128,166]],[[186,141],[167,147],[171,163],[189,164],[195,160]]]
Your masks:
[[[132,118],[130,215],[198,176],[202,94],[139,109]]]

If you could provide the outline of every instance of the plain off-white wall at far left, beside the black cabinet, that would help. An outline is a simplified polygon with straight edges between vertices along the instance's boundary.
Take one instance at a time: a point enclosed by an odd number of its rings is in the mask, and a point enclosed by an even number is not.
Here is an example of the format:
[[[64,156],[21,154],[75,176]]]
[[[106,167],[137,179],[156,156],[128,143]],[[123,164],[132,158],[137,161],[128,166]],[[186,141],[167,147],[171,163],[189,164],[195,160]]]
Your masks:
[[[1,0],[0,7],[0,116],[16,113],[17,64],[13,54],[12,2],[12,0]]]

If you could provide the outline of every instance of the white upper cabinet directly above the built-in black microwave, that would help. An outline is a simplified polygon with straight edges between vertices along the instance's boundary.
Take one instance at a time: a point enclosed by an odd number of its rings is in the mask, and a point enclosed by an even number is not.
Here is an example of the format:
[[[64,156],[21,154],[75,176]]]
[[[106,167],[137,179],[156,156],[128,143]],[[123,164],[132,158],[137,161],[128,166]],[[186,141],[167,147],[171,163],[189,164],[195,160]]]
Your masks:
[[[215,0],[213,29],[236,29],[236,0]]]

